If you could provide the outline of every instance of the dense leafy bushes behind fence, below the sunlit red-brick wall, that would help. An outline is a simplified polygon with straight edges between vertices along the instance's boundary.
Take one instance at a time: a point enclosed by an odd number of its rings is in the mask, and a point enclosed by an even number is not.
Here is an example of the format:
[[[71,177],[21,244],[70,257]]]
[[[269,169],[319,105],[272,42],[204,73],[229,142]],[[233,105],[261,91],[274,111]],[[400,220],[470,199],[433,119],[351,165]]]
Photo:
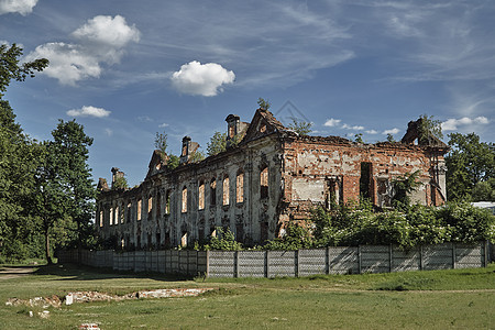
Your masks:
[[[315,245],[397,244],[410,249],[443,242],[474,243],[495,240],[495,216],[470,204],[441,208],[413,206],[403,211],[372,212],[362,206],[341,206],[336,211],[318,208]]]

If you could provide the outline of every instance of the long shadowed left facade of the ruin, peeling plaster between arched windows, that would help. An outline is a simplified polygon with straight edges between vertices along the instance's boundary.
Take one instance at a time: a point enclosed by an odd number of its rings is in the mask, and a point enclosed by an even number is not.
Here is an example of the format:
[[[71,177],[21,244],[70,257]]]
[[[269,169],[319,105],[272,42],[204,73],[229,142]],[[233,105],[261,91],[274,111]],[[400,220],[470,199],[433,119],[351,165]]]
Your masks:
[[[206,240],[215,228],[229,228],[238,241],[254,244],[277,234],[278,201],[282,196],[280,150],[273,136],[260,139],[224,154],[173,172],[156,173],[138,188],[100,193],[98,212],[103,212],[100,237],[116,237],[118,245],[139,248],[177,246],[185,241]],[[268,168],[267,197],[261,196],[260,174]],[[237,176],[243,173],[243,201],[237,202]],[[229,177],[229,202],[223,205],[223,179]],[[216,179],[216,204],[211,204],[210,183]],[[205,208],[199,209],[199,186],[205,184]],[[183,189],[187,189],[187,211],[183,212]],[[169,213],[165,212],[169,191]],[[160,202],[157,196],[160,193]],[[147,212],[147,200],[153,208]],[[142,220],[138,219],[138,200],[142,200]],[[131,218],[110,226],[110,208],[131,202]],[[160,206],[157,212],[156,207]],[[158,217],[157,217],[158,216]],[[184,233],[187,233],[184,239]],[[185,240],[185,241],[184,241]]]

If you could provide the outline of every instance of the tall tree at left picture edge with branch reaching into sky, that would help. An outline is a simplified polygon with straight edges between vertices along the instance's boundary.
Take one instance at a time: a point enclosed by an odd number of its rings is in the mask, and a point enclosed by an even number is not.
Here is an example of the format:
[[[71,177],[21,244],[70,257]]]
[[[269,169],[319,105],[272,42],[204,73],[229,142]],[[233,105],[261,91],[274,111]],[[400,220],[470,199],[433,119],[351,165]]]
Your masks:
[[[22,48],[0,45],[0,245],[10,257],[26,256],[26,243],[34,245],[34,228],[26,211],[33,187],[35,144],[23,134],[15,114],[3,99],[11,80],[22,81],[42,70],[47,59],[19,65]],[[32,251],[32,250],[31,250]],[[32,256],[32,255],[31,255]]]

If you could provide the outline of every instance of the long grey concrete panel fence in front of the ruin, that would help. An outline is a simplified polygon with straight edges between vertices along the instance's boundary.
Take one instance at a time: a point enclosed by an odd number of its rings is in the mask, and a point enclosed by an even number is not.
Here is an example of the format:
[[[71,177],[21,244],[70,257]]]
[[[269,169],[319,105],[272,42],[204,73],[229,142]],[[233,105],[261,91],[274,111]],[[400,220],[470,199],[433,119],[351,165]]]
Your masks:
[[[488,244],[444,243],[403,251],[393,245],[330,246],[299,251],[82,251],[82,264],[117,271],[209,277],[276,277],[484,267]],[[77,251],[61,251],[76,262]]]

